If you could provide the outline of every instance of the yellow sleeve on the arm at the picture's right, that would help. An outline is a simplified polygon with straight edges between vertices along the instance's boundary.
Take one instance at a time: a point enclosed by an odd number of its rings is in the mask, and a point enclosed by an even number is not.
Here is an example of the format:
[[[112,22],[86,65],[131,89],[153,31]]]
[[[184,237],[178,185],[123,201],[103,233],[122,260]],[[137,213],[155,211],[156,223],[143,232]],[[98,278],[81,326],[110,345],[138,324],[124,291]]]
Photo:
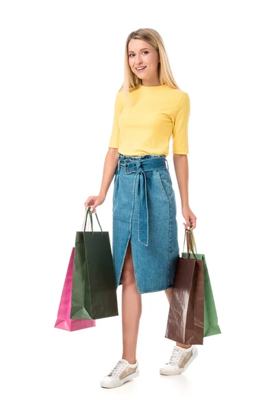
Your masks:
[[[184,92],[177,108],[173,112],[173,149],[176,154],[188,154],[188,120],[190,116],[190,98]]]

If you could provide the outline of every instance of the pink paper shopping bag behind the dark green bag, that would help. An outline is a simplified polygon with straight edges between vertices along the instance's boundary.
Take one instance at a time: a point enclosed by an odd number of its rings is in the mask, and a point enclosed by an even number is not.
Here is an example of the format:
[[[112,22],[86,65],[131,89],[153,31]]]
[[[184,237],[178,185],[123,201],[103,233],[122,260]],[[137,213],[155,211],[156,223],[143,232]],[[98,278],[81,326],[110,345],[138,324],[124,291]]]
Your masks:
[[[54,325],[55,328],[64,329],[66,331],[77,331],[78,329],[95,327],[96,325],[95,320],[74,320],[70,318],[74,251],[75,247],[73,247],[71,251],[71,258],[69,260],[69,266],[66,271],[66,277],[64,279],[64,286],[60,299],[57,320]]]

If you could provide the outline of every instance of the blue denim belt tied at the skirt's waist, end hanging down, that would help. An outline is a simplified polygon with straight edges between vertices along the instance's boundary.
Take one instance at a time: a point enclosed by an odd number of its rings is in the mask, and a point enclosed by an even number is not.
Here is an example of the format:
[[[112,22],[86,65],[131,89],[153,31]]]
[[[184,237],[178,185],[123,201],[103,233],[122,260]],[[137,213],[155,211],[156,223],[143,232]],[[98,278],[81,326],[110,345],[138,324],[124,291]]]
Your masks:
[[[147,163],[145,163],[147,162]],[[145,158],[132,160],[131,158],[122,158],[119,160],[119,170],[121,166],[125,167],[125,174],[140,174],[138,185],[139,211],[138,211],[138,241],[144,245],[149,245],[149,212],[147,208],[147,178],[145,171],[157,169],[166,169],[169,166],[165,157]],[[134,190],[135,192],[135,190]],[[135,199],[134,199],[135,201]]]

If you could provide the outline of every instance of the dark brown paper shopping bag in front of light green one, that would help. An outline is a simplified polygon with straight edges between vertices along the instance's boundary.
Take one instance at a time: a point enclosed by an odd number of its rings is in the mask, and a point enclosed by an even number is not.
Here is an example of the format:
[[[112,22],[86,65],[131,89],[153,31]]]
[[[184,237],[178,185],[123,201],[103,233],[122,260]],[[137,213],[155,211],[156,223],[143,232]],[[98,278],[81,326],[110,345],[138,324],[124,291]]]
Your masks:
[[[186,256],[179,257],[175,273],[165,337],[181,344],[203,344],[204,284],[203,261],[195,257],[190,229]],[[190,258],[190,251],[194,258]],[[183,247],[184,252],[184,247]]]

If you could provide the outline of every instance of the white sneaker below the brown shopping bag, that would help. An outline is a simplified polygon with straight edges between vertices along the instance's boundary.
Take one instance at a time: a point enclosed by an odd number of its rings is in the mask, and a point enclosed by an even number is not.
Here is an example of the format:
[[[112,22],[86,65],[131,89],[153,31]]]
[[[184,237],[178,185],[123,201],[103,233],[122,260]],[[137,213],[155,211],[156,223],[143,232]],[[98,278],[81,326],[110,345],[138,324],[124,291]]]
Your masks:
[[[197,355],[198,349],[193,345],[189,348],[182,348],[175,345],[169,362],[164,363],[164,366],[160,369],[160,374],[177,375],[184,373]]]

